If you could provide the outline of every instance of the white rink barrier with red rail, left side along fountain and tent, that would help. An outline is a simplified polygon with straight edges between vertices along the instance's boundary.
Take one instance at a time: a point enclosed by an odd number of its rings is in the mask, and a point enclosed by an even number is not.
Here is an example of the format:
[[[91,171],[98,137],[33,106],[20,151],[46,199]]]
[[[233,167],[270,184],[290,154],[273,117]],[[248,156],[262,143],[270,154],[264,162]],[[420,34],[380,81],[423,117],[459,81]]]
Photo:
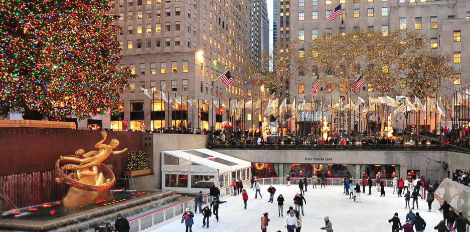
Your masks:
[[[243,181],[244,186],[248,186],[246,184],[250,184],[250,179]],[[225,197],[233,194],[233,187],[226,186],[219,189],[220,190],[220,197]],[[210,204],[210,195],[209,193],[203,194],[203,201],[206,202],[206,205]],[[148,229],[154,225],[160,224],[165,222],[169,219],[177,217],[185,212],[185,208],[190,208],[190,210],[194,210],[195,202],[194,198],[189,200],[183,201],[178,204],[174,204],[168,206],[166,208],[162,208],[156,210],[154,212],[150,212],[143,216],[136,217],[134,219],[129,220],[130,230],[129,232],[139,232],[145,229]],[[204,205],[203,205],[204,207]]]

